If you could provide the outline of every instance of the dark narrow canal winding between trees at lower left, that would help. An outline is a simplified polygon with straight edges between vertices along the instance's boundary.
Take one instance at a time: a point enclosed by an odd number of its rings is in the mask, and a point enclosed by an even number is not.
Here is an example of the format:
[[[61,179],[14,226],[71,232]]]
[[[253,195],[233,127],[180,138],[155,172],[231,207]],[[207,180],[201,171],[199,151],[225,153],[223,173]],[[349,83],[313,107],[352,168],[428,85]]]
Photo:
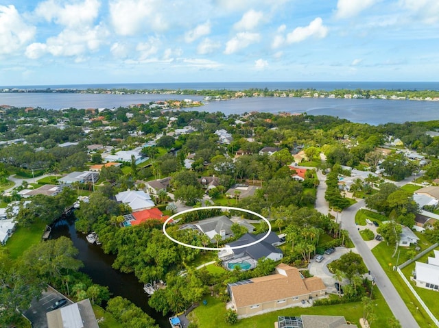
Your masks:
[[[100,246],[89,244],[84,234],[75,231],[75,216],[60,218],[52,226],[50,238],[55,239],[60,236],[66,236],[73,241],[73,244],[79,250],[78,260],[84,263],[84,267],[80,270],[91,277],[94,283],[108,286],[112,297],[121,296],[141,307],[143,311],[156,320],[161,328],[169,327],[167,318],[147,304],[147,294],[143,292],[143,285],[139,283],[134,274],[121,273],[113,269],[111,265],[115,261],[115,255],[104,254]]]

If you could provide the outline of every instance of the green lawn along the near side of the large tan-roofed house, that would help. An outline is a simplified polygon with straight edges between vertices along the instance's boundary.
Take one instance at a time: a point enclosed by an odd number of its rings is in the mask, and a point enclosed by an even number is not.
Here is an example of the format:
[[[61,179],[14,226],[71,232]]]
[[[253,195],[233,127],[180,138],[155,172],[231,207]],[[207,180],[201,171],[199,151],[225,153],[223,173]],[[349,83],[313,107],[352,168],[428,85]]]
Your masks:
[[[377,314],[377,321],[373,324],[374,327],[386,327],[388,318],[392,316],[390,308],[385,303],[381,293],[378,289],[374,290],[375,295],[375,313]],[[226,328],[230,327],[224,322],[224,315],[226,314],[226,306],[219,299],[213,297],[206,297],[207,305],[200,305],[191,314],[189,320],[198,323],[198,327],[202,328]],[[237,328],[266,328],[274,327],[274,322],[278,316],[300,316],[302,314],[316,314],[324,316],[344,316],[346,320],[359,326],[359,318],[363,316],[363,306],[361,302],[337,304],[337,305],[321,305],[314,307],[293,307],[285,310],[278,310],[259,316],[252,316],[238,321],[233,327]],[[215,320],[213,320],[215,318]]]

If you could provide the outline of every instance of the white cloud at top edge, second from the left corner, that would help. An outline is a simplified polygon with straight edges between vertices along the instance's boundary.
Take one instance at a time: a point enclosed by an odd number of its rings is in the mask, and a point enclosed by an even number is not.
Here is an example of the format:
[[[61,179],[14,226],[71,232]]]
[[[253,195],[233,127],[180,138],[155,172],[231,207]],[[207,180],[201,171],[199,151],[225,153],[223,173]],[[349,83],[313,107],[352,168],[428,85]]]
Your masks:
[[[54,21],[66,27],[83,27],[92,25],[99,14],[98,0],[84,0],[60,5],[59,1],[47,0],[38,3],[35,13],[46,21]]]

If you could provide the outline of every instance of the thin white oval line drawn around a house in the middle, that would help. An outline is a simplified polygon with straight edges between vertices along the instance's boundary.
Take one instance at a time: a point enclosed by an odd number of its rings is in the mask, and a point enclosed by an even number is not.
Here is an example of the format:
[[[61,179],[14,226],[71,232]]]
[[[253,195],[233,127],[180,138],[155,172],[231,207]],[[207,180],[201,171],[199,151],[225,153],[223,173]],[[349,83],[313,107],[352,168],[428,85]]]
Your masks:
[[[250,213],[250,214],[258,216],[259,218],[263,219],[268,224],[267,234],[265,234],[265,236],[263,236],[259,240],[256,240],[254,242],[250,242],[248,244],[244,244],[244,245],[241,245],[241,246],[235,246],[235,247],[202,247],[202,246],[195,246],[195,245],[185,244],[184,242],[180,242],[180,241],[172,238],[171,236],[169,236],[169,234],[167,234],[167,232],[166,232],[166,225],[167,225],[167,223],[170,220],[174,219],[176,216],[180,216],[181,214],[185,214],[185,213],[189,213],[189,212],[194,212],[194,211],[200,211],[200,210],[223,210],[223,209],[242,211],[242,212],[246,212],[246,213]],[[258,244],[259,242],[263,241],[265,238],[268,237],[268,235],[270,235],[271,231],[272,231],[272,225],[270,224],[268,219],[265,218],[264,216],[262,216],[261,214],[259,214],[257,212],[250,211],[250,210],[246,210],[244,208],[230,207],[230,206],[204,206],[204,207],[189,208],[189,210],[184,210],[182,212],[178,212],[178,213],[176,213],[176,214],[174,214],[172,216],[169,216],[169,218],[167,218],[165,220],[165,223],[163,223],[163,234],[165,234],[165,236],[167,236],[167,238],[169,238],[173,242],[176,242],[177,244],[180,244],[182,246],[190,247],[191,249],[202,249],[204,251],[222,251],[224,249],[230,249],[230,250],[232,250],[232,249],[244,249],[245,247],[249,247],[249,246]]]

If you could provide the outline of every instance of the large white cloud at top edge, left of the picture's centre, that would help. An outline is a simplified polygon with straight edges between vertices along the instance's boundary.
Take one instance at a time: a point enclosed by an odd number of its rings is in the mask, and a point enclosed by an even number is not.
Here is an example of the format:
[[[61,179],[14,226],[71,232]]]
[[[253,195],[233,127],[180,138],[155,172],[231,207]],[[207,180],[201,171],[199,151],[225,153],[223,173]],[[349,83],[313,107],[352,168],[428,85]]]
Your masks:
[[[132,36],[147,28],[164,31],[168,27],[160,11],[160,0],[112,0],[109,6],[112,26],[121,36]]]

